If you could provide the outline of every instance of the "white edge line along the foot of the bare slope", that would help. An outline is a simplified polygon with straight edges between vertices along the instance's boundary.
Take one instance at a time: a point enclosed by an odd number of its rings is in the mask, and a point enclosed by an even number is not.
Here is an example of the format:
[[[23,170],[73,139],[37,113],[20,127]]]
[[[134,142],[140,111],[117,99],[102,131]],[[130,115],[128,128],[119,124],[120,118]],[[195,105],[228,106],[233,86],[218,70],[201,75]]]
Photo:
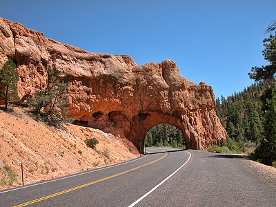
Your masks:
[[[150,154],[150,153],[149,153],[149,154]],[[149,155],[149,154],[148,154],[148,155]],[[123,164],[127,164],[127,163],[130,163],[130,162],[132,162],[132,161],[137,161],[138,159],[142,159],[142,158],[144,158],[144,157],[147,157],[148,155],[143,156],[143,157],[139,157],[139,158],[136,158],[136,159],[132,159],[132,160],[130,160],[130,161],[124,161],[124,162],[122,162],[122,163],[120,163],[120,164],[115,164],[115,165],[112,165],[112,166],[101,167],[101,168],[97,168],[97,169],[94,169],[94,170],[89,170],[89,171],[87,171],[87,172],[78,172],[78,173],[75,174],[75,175],[69,175],[69,176],[66,176],[66,177],[60,177],[60,178],[57,178],[57,179],[51,179],[51,180],[49,180],[49,181],[41,181],[41,182],[39,182],[38,184],[30,184],[30,185],[28,185],[28,186],[21,186],[21,187],[19,187],[19,188],[14,188],[14,189],[10,189],[10,190],[6,190],[6,191],[3,191],[3,192],[0,192],[0,194],[2,194],[2,193],[8,193],[8,192],[14,191],[14,190],[21,190],[21,189],[23,189],[23,188],[29,188],[29,187],[32,187],[32,186],[39,186],[39,185],[42,185],[42,184],[48,184],[48,183],[50,183],[50,182],[59,181],[59,180],[61,180],[61,179],[68,179],[68,178],[70,178],[70,177],[76,177],[76,176],[79,176],[79,175],[85,175],[85,174],[88,174],[88,173],[96,172],[96,171],[98,171],[98,170],[104,170],[104,169],[107,169],[107,168],[112,168],[112,167],[115,167],[115,166],[121,166],[121,165],[123,165]]]

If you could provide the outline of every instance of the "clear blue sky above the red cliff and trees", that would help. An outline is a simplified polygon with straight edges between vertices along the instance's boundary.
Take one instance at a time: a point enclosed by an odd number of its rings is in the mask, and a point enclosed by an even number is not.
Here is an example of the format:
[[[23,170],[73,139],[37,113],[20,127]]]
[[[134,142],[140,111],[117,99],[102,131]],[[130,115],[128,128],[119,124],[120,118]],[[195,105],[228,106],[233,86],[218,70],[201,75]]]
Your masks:
[[[175,61],[181,75],[216,97],[253,83],[275,0],[4,1],[0,17],[88,50],[130,55],[138,65]]]

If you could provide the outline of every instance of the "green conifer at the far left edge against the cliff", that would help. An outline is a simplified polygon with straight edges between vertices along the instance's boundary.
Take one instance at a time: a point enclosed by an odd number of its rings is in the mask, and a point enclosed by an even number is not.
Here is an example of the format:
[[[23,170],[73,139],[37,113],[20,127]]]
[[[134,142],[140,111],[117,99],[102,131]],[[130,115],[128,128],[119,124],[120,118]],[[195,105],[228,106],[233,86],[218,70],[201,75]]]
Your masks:
[[[11,59],[8,59],[0,71],[0,93],[1,97],[5,99],[5,109],[8,108],[10,101],[19,101],[17,95],[18,79],[17,66]]]

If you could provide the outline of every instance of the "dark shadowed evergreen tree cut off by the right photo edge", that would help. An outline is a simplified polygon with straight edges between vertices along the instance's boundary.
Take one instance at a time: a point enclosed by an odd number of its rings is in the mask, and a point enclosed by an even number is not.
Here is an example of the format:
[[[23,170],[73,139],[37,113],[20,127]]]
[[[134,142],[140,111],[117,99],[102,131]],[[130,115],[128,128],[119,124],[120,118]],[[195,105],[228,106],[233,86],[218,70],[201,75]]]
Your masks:
[[[255,81],[274,80],[276,73],[276,21],[272,23],[266,32],[275,32],[270,34],[269,38],[264,39],[264,59],[269,64],[262,67],[254,67],[249,73],[250,78]],[[262,163],[271,165],[276,161],[276,88],[270,87],[262,95],[264,106],[264,139],[255,151],[255,156]]]

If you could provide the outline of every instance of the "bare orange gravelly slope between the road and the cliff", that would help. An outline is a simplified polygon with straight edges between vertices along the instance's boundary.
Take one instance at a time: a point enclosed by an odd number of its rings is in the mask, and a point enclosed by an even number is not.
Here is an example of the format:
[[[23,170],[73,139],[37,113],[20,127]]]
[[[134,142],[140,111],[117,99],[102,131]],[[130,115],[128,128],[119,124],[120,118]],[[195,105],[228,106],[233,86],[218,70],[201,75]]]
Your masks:
[[[27,111],[28,113],[28,111]],[[99,144],[88,148],[85,139],[95,137]],[[22,108],[0,110],[0,190],[61,177],[139,157],[135,146],[101,130],[64,125],[57,129],[33,119]],[[8,176],[9,169],[14,176]]]

